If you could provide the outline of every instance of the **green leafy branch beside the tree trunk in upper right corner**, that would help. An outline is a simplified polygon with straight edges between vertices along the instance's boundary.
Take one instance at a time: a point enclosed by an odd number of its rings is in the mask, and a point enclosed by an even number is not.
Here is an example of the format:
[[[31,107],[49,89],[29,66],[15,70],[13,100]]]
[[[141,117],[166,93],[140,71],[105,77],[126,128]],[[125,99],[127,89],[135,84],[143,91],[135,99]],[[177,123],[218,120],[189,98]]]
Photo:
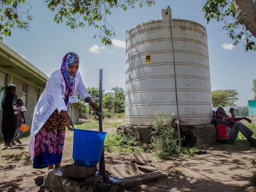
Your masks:
[[[234,45],[243,39],[246,42],[246,51],[256,50],[252,33],[246,30],[243,22],[239,20],[233,0],[207,0],[202,10],[205,12],[207,23],[212,19],[224,22],[222,29],[228,32],[227,35],[234,40]]]

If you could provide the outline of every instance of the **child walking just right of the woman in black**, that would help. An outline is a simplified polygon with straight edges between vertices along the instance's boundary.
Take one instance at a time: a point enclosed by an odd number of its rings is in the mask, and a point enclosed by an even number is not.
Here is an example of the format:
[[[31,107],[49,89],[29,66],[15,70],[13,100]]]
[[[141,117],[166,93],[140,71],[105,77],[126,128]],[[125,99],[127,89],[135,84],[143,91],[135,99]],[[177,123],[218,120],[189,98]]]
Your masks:
[[[18,117],[17,117],[16,130],[18,130],[18,135],[17,135],[16,138],[15,138],[15,136],[13,137],[12,145],[16,145],[14,140],[17,143],[22,144],[22,142],[20,141],[20,137],[22,136],[22,134],[24,132],[20,130],[20,125],[21,124],[26,124],[25,113],[27,112],[26,107],[24,106],[24,101],[22,100],[22,98],[17,98],[17,112],[18,112]]]

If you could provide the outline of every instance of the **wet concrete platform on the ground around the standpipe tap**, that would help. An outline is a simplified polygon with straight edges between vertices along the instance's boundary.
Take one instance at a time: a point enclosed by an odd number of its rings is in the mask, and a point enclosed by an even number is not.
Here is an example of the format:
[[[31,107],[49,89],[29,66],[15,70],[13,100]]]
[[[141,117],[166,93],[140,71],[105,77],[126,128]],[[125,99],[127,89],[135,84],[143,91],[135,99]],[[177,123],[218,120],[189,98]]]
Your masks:
[[[122,165],[116,165],[113,167],[116,170],[120,170]],[[108,169],[111,168],[108,167],[107,170]],[[118,177],[111,174],[111,176],[105,176],[101,182],[84,182],[87,179],[74,179],[64,175],[56,174],[54,173],[54,170],[49,170],[44,175],[44,185],[40,187],[40,191],[124,192],[125,187],[137,186],[149,182],[156,182],[157,180],[166,178],[169,175],[169,172],[161,171],[150,166],[138,166],[138,169],[140,171],[138,172],[139,175]]]

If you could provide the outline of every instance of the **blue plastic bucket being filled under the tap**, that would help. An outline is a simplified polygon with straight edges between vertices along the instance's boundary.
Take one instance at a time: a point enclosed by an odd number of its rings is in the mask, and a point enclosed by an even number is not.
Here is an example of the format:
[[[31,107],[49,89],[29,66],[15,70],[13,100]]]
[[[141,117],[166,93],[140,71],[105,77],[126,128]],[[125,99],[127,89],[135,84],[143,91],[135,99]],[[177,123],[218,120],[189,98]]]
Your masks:
[[[96,166],[100,161],[106,132],[74,129],[73,159],[75,164]]]

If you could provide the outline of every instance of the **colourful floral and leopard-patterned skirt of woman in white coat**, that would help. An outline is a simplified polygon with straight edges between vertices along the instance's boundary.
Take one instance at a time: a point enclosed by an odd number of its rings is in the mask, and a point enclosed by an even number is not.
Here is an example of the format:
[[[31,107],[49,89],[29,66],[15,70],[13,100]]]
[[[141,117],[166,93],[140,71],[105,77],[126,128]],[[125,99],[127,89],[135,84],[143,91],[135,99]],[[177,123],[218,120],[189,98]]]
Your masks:
[[[33,168],[46,168],[61,162],[66,120],[56,109],[35,136]]]

